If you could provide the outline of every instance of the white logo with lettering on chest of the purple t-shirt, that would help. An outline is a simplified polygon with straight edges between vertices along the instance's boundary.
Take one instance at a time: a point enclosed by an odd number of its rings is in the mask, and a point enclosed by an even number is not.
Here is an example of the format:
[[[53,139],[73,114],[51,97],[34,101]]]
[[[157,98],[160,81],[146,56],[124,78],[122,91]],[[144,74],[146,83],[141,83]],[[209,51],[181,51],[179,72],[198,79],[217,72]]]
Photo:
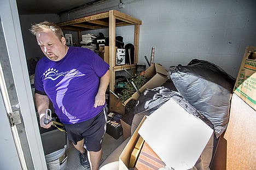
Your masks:
[[[59,70],[53,69],[53,68],[49,68],[48,70],[46,70],[44,72],[44,80],[46,79],[51,79],[51,80],[56,80],[57,78],[61,77],[61,76],[74,76],[79,74],[79,71],[77,69],[72,69],[69,71],[65,71],[65,72],[59,72]]]

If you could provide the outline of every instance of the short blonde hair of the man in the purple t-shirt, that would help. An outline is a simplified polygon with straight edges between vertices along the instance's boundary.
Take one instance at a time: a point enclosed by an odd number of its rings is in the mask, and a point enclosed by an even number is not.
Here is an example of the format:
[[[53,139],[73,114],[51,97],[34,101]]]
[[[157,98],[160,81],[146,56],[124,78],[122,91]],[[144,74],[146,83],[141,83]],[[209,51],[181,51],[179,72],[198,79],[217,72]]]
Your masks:
[[[35,23],[34,25],[31,26],[30,31],[33,35],[37,35],[40,32],[52,31],[60,40],[62,37],[64,37],[61,28],[57,26],[55,23],[49,21]]]

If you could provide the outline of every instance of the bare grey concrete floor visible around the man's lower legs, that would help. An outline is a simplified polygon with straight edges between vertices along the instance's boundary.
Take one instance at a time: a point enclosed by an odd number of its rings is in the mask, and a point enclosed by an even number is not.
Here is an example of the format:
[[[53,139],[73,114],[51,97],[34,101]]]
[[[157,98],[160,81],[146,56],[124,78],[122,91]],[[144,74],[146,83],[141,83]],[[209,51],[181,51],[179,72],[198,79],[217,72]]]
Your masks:
[[[118,139],[113,138],[112,136],[105,133],[102,140],[102,159],[101,163],[110,155],[115,148],[117,148],[123,142],[123,136],[120,136]],[[82,170],[84,169],[82,165],[80,165],[80,160],[78,156],[78,151],[73,147],[71,143],[68,144],[67,148],[68,160],[67,166],[65,170]],[[90,170],[90,168],[86,169]]]

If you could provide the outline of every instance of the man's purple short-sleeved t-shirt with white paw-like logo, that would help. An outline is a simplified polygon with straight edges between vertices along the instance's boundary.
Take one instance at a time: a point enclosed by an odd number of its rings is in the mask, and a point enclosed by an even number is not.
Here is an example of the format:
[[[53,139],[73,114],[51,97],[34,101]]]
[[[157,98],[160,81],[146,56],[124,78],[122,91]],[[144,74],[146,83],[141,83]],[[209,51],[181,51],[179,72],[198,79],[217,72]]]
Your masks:
[[[64,124],[84,122],[100,113],[104,106],[94,108],[100,78],[109,65],[95,52],[69,47],[64,58],[54,62],[47,57],[36,66],[34,87],[45,92]]]

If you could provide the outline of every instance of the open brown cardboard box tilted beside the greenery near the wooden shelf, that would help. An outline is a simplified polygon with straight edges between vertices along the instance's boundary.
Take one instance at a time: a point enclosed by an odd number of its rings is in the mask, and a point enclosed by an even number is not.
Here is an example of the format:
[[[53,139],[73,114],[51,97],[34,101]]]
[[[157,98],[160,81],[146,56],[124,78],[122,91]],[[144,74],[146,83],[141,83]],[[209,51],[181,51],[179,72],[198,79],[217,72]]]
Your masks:
[[[165,68],[159,64],[153,63],[149,66],[149,68],[145,71],[144,76],[149,80],[146,84],[144,84],[140,89],[139,92],[143,92],[144,90],[153,89],[156,87],[161,86],[168,80],[167,71]],[[124,105],[127,104],[128,101],[131,99],[137,100],[139,98],[139,94],[136,92],[134,93],[129,99],[124,101]]]

